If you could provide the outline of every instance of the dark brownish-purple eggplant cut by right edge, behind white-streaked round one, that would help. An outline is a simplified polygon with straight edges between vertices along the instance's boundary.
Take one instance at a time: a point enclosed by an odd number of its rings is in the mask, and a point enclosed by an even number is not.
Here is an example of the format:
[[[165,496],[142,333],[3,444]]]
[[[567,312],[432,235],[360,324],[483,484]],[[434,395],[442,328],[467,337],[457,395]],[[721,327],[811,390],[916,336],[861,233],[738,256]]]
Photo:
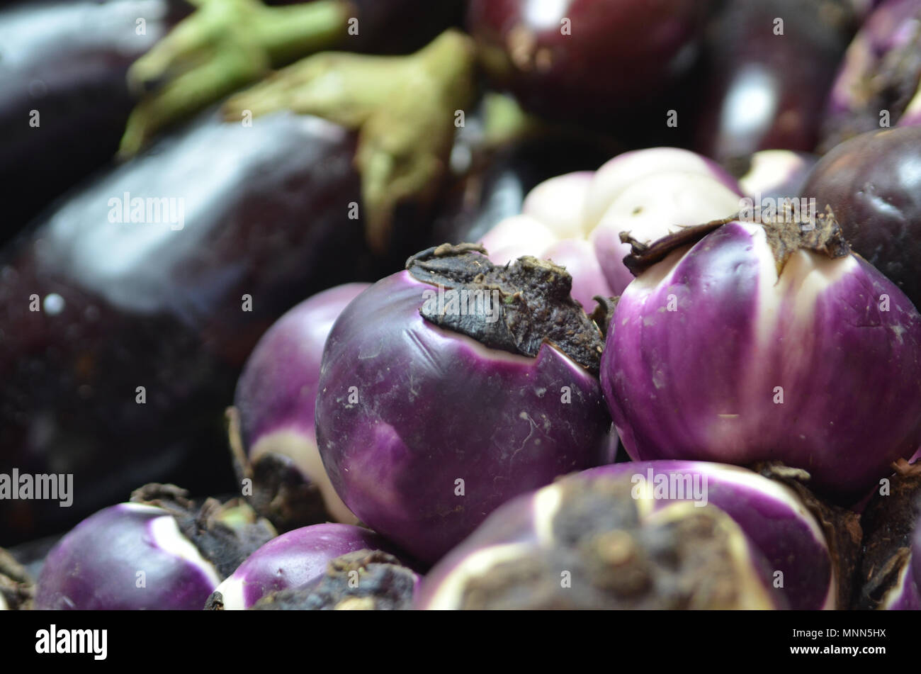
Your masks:
[[[812,169],[802,196],[831,206],[851,248],[921,306],[921,127],[860,134]]]

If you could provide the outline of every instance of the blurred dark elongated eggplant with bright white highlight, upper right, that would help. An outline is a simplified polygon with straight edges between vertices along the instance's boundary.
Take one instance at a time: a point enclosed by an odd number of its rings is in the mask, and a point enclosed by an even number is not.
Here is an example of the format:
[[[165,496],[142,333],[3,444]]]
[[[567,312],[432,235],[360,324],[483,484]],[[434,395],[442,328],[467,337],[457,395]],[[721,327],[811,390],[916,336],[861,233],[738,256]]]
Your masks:
[[[718,161],[810,152],[856,24],[840,0],[729,0],[707,29],[695,149]]]

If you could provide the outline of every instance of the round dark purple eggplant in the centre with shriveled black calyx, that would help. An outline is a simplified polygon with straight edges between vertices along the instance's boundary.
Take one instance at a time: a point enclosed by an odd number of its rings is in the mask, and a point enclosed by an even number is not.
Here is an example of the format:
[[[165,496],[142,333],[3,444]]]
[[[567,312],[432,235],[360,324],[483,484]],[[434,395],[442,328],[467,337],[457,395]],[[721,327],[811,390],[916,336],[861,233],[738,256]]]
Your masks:
[[[323,353],[317,439],[332,485],[424,562],[512,496],[609,451],[600,332],[570,277],[477,250],[410,258],[345,308]]]

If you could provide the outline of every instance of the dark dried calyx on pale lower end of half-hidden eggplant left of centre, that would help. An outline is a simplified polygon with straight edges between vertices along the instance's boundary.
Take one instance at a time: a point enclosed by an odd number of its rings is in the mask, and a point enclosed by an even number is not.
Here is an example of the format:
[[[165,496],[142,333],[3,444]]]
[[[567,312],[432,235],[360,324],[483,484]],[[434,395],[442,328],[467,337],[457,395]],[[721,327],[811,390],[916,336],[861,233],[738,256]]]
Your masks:
[[[320,487],[304,477],[294,460],[268,451],[251,461],[243,448],[239,412],[229,407],[226,414],[234,471],[240,482],[251,481],[252,494],[247,502],[253,509],[279,533],[331,521]]]

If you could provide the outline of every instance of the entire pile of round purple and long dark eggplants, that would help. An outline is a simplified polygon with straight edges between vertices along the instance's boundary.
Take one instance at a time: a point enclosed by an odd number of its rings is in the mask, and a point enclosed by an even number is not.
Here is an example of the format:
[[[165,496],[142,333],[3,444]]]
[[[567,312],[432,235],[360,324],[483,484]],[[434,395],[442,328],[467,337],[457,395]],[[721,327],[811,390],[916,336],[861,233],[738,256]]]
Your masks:
[[[0,610],[921,610],[921,6],[313,2],[520,105],[386,250],[348,115],[99,170],[189,6],[0,10]]]

